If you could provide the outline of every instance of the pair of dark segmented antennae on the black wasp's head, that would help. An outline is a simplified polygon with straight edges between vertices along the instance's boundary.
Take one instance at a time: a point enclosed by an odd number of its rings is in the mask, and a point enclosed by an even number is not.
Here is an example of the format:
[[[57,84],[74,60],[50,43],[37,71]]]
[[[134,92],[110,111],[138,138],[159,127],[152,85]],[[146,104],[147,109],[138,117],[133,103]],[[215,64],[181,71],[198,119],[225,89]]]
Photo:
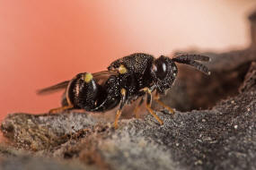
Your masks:
[[[180,54],[180,55],[176,55],[175,58],[172,58],[172,61],[174,62],[177,62],[180,64],[189,64],[191,66],[194,66],[200,72],[206,73],[207,75],[211,73],[208,71],[207,66],[203,64],[199,64],[199,62],[196,62],[195,60],[208,62],[210,61],[210,58],[206,55],[195,55],[195,54]]]

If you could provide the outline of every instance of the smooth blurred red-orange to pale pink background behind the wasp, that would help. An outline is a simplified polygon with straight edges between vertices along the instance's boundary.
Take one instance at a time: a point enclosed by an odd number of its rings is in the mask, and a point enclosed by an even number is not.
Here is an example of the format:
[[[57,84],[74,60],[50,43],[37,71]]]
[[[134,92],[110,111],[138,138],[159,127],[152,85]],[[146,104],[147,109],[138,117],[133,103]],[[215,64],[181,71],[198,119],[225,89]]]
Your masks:
[[[0,120],[59,106],[60,93],[37,96],[36,90],[78,72],[105,70],[124,55],[246,47],[246,17],[255,5],[254,0],[0,0]]]

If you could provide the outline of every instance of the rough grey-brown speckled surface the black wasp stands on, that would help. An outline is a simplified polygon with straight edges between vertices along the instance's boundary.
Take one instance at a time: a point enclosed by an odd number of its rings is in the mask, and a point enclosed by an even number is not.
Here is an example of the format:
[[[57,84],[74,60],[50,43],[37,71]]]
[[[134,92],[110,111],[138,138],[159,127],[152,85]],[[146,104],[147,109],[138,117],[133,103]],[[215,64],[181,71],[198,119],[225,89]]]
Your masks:
[[[75,110],[7,116],[0,169],[256,169],[254,46],[207,54],[210,77],[192,79],[180,67],[180,86],[164,98],[175,115],[157,112],[163,125],[146,115],[122,119],[115,130],[101,115]]]

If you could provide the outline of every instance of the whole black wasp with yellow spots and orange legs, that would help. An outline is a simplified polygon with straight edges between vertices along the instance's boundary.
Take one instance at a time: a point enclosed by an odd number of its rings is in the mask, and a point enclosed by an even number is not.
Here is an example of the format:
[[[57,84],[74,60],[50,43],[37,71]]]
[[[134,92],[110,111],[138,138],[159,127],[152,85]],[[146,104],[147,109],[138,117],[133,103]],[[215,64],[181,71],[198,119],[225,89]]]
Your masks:
[[[152,100],[154,99],[173,114],[172,108],[165,106],[158,96],[172,87],[178,73],[175,63],[189,64],[200,72],[210,74],[207,66],[197,61],[207,62],[209,57],[180,54],[173,58],[163,55],[154,58],[153,55],[136,53],[112,62],[106,71],[78,73],[70,81],[60,82],[49,88],[40,89],[38,92],[45,94],[57,89],[66,89],[62,106],[52,109],[50,112],[72,108],[90,112],[105,112],[119,105],[114,122],[115,128],[118,127],[123,106],[139,98],[138,106],[141,106],[146,98],[146,109],[160,124],[163,124],[163,121],[151,108]],[[153,98],[152,95],[154,91],[156,91],[156,98]]]

